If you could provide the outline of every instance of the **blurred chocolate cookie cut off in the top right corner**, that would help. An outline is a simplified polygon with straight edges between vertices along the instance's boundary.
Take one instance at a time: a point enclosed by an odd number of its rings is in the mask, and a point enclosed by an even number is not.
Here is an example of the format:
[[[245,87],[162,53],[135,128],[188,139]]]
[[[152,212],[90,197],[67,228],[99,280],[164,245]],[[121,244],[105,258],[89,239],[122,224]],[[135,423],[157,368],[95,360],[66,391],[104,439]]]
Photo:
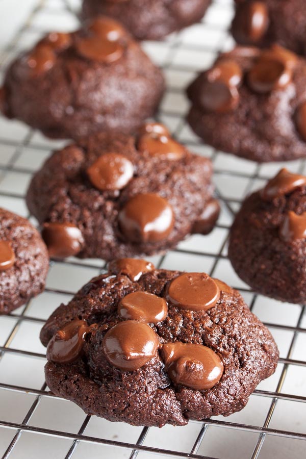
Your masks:
[[[232,33],[238,43],[269,46],[279,43],[305,54],[304,0],[235,0]]]

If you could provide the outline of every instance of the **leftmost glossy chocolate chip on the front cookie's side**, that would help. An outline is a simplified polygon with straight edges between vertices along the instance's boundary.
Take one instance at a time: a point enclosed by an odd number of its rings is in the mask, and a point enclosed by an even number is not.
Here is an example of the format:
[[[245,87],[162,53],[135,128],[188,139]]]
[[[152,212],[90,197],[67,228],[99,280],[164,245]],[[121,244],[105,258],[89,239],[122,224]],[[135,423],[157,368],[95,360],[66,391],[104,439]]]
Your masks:
[[[47,346],[47,359],[56,363],[70,363],[83,353],[85,336],[89,331],[86,320],[73,320],[57,331]]]

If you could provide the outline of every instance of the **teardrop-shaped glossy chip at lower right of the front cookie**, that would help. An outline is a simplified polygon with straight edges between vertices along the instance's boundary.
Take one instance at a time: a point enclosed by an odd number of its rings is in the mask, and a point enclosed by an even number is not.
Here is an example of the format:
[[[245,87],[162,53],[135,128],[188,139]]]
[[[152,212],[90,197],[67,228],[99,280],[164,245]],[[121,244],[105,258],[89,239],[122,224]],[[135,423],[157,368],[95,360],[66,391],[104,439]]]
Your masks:
[[[221,379],[223,364],[216,352],[200,344],[167,343],[161,350],[165,370],[175,384],[198,391],[211,389]]]

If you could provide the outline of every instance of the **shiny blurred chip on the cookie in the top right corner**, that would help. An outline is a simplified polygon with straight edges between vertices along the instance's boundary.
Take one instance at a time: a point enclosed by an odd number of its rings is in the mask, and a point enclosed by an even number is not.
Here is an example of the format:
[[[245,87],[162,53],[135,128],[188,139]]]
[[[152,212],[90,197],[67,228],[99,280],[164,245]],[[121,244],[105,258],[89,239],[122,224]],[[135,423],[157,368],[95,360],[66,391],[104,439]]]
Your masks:
[[[234,27],[241,40],[257,43],[267,32],[268,25],[268,9],[264,2],[244,2],[237,7]]]

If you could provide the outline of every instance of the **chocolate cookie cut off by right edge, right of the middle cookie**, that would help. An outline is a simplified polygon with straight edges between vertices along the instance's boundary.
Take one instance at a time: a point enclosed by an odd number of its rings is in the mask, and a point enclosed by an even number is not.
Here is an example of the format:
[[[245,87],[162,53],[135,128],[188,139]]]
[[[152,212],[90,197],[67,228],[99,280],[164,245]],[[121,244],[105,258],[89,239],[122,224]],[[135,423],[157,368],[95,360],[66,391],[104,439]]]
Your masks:
[[[234,221],[228,257],[252,289],[306,301],[306,177],[282,169],[251,194]]]

